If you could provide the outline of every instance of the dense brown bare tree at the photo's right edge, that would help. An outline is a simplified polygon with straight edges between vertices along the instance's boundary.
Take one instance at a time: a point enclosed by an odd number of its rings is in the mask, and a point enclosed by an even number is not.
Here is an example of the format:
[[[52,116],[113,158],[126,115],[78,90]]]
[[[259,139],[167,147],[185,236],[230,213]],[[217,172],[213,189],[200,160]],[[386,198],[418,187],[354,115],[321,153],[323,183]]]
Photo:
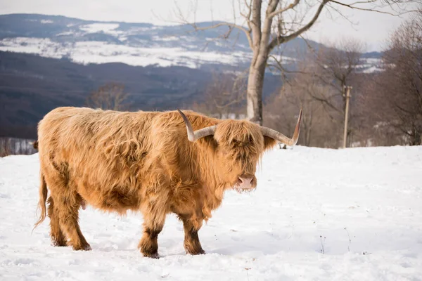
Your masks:
[[[392,34],[383,62],[385,71],[373,79],[365,96],[373,130],[393,130],[399,144],[421,145],[422,9]]]

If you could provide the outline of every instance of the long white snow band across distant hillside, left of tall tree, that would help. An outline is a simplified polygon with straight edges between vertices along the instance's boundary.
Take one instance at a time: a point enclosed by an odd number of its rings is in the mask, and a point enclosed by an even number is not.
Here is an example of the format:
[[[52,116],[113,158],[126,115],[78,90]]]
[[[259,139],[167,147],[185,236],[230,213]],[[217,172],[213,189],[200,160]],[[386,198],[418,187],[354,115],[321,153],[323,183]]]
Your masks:
[[[60,35],[68,34],[62,33]],[[164,37],[162,41],[165,41],[166,38]],[[125,37],[120,39],[126,40]],[[250,53],[243,51],[232,51],[230,53],[188,51],[186,48],[166,48],[151,45],[151,42],[148,41],[145,41],[145,46],[135,47],[107,44],[102,41],[60,44],[50,39],[25,37],[0,40],[0,51],[37,53],[46,58],[62,58],[65,55],[75,63],[82,64],[126,63],[134,66],[159,65],[162,67],[183,65],[191,68],[200,67],[204,63],[236,65],[239,62],[248,62],[252,58]]]

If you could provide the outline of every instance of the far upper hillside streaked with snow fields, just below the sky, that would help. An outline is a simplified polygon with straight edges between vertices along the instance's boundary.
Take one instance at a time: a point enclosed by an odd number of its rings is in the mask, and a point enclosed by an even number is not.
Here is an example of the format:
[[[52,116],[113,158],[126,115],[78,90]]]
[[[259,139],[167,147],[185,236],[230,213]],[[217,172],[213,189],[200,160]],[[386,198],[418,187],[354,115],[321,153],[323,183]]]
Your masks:
[[[207,26],[200,22],[198,26]],[[218,40],[226,27],[193,32],[190,25],[155,26],[146,23],[94,22],[63,16],[0,15],[0,51],[37,53],[49,58],[69,58],[75,63],[126,63],[128,65],[204,65],[246,67],[252,58],[243,33],[232,32]],[[309,41],[313,48],[322,45]],[[302,39],[283,47],[283,63],[294,65],[307,44]],[[362,69],[375,70],[379,53],[366,55]],[[368,65],[369,64],[369,65]]]

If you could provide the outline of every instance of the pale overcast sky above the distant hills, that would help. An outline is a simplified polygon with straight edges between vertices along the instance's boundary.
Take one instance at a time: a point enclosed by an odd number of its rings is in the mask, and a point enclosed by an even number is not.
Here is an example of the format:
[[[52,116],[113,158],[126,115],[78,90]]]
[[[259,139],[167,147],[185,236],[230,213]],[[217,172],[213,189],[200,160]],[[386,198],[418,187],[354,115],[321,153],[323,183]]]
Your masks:
[[[237,3],[237,0],[235,1]],[[193,13],[189,13],[193,0],[0,0],[0,14],[43,13],[84,20],[173,25],[177,20],[174,16],[176,2],[184,15],[193,16]],[[231,0],[198,0],[196,21],[233,21],[231,3]],[[321,43],[352,37],[362,40],[366,44],[366,51],[381,51],[388,35],[409,16],[399,18],[381,13],[352,11],[348,8],[340,8],[340,11],[352,23],[331,9],[331,12],[325,11],[321,14],[317,24],[305,37]],[[240,20],[238,23],[241,23]]]

